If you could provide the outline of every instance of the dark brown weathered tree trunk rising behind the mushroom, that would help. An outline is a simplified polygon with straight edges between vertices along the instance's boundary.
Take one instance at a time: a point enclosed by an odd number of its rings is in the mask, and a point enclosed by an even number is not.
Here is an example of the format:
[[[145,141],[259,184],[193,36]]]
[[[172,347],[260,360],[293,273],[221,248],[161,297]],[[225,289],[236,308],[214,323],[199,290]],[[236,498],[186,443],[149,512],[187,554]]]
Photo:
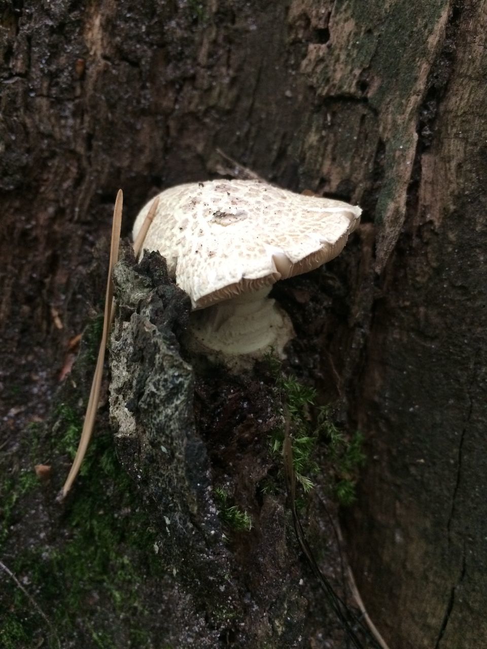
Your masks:
[[[482,646],[486,16],[484,0],[6,5],[8,452],[99,308],[86,271],[119,187],[127,233],[156,191],[214,177],[220,147],[280,186],[358,202],[309,360],[368,440],[347,553],[391,649]]]

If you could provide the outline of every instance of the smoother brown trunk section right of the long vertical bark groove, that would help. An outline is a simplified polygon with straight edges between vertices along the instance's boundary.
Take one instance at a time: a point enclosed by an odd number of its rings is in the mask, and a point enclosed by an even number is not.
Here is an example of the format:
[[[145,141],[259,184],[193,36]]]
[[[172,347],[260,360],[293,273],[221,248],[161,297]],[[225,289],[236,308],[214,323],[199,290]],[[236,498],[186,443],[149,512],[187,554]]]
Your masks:
[[[486,9],[453,8],[432,60],[405,227],[356,386],[375,461],[349,525],[354,564],[373,616],[408,648],[475,647],[487,633]]]

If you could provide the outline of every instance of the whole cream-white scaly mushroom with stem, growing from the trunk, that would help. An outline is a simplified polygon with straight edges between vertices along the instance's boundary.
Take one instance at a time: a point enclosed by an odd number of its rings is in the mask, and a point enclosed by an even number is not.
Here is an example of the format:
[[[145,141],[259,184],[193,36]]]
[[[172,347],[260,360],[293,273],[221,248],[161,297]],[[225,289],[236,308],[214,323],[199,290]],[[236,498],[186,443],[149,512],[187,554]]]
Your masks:
[[[163,191],[143,248],[159,251],[190,296],[190,347],[249,366],[269,349],[284,356],[290,317],[268,297],[278,280],[336,257],[362,210],[261,180],[212,180]],[[138,235],[149,212],[136,218]]]

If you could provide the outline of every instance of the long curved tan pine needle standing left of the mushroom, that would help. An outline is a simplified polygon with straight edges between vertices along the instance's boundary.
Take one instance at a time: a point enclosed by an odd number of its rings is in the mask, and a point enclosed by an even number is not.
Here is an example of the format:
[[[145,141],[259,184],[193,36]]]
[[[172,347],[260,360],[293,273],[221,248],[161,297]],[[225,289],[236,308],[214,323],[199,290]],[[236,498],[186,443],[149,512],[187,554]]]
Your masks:
[[[115,209],[113,215],[112,225],[112,241],[110,245],[110,262],[108,263],[108,280],[106,282],[106,296],[105,296],[105,316],[103,318],[103,333],[101,335],[100,349],[98,352],[98,360],[95,367],[93,376],[92,389],[90,397],[88,398],[88,406],[86,407],[86,415],[84,417],[83,428],[79,445],[76,451],[75,459],[71,465],[68,478],[62,487],[62,491],[58,496],[58,500],[64,500],[71,489],[73,482],[76,480],[81,463],[86,455],[86,450],[92,437],[93,427],[95,423],[96,411],[98,407],[101,378],[103,376],[103,363],[105,362],[105,349],[106,341],[108,340],[108,332],[110,330],[110,323],[112,321],[113,308],[113,282],[112,270],[118,261],[118,249],[120,243],[120,228],[121,228],[121,214],[122,214],[123,194],[118,190],[117,199],[115,201]]]

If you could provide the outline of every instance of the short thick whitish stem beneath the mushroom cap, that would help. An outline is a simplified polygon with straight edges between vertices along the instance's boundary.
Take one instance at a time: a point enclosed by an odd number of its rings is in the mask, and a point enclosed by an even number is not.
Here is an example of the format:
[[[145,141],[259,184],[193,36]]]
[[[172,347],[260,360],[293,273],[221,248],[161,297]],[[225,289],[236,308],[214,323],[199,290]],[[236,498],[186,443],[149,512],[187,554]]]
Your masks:
[[[271,286],[242,293],[192,313],[190,336],[205,352],[246,356],[255,361],[273,349],[284,356],[284,345],[294,336],[290,317],[268,295]],[[244,360],[244,363],[245,363]]]

